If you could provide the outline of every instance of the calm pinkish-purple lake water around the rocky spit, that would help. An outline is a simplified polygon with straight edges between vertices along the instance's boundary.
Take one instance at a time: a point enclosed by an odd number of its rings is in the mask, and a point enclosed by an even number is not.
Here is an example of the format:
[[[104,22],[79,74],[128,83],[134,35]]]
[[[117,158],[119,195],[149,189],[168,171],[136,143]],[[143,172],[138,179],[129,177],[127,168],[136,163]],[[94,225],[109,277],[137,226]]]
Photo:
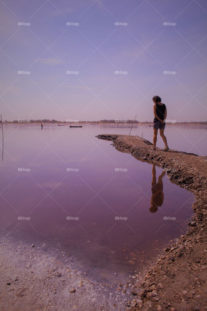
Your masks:
[[[196,144],[206,133],[201,127],[179,130],[187,138],[176,128],[166,135],[170,147],[183,151],[191,148],[189,138]],[[123,126],[4,126],[1,234],[35,245],[43,241],[60,255],[70,253],[68,260],[75,259],[90,276],[124,282],[187,230],[194,198],[161,168],[95,137],[109,132],[129,131]],[[135,135],[142,132],[151,139],[149,126],[133,129]],[[190,152],[205,154],[203,139],[195,146]]]

